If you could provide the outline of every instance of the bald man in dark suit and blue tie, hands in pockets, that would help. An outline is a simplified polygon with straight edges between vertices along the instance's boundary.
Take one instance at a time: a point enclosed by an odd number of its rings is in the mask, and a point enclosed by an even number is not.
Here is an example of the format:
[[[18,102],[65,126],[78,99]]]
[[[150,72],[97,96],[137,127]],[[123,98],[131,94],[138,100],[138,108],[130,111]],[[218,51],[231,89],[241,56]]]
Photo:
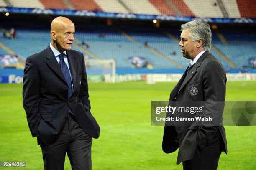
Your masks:
[[[71,50],[75,27],[57,17],[51,43],[29,56],[24,69],[23,107],[45,170],[63,170],[66,153],[73,170],[91,170],[92,137],[100,127],[90,113],[84,56]]]

